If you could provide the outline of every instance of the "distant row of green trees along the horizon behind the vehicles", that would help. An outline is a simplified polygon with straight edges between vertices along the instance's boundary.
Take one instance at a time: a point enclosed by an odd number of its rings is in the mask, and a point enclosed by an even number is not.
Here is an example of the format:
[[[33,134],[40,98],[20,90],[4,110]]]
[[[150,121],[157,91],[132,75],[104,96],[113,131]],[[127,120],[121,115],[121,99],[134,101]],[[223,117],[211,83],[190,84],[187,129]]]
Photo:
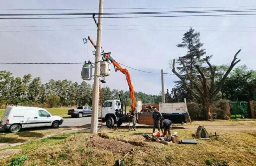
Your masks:
[[[130,105],[129,91],[122,91],[109,87],[101,88],[102,101],[119,99],[127,96],[127,105]],[[147,103],[158,103],[160,95],[149,95],[135,92],[135,97]],[[31,74],[13,77],[10,71],[0,71],[0,108],[9,105],[42,106],[42,107],[73,107],[92,104],[92,86],[82,81],[51,79],[42,83],[40,77],[32,79]]]

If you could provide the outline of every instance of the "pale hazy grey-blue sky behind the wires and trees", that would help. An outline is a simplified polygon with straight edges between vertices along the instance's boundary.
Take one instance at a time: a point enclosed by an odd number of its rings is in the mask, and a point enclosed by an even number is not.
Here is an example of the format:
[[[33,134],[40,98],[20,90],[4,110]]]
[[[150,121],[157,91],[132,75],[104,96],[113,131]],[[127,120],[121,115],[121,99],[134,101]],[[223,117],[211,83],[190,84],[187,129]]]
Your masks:
[[[0,0],[0,13],[98,13],[98,0]],[[180,7],[238,7],[232,9],[256,9],[252,0],[105,0],[104,12],[219,10],[230,8],[180,8]],[[252,6],[240,8],[239,6]],[[253,7],[255,6],[255,7]],[[120,9],[120,8],[174,9]],[[83,10],[3,10],[3,9],[81,9]],[[84,10],[90,9],[90,10]],[[102,48],[111,52],[117,62],[150,71],[171,73],[169,63],[186,53],[176,45],[191,26],[200,32],[206,55],[213,55],[215,65],[231,62],[238,49],[242,49],[238,65],[246,64],[256,69],[256,16],[211,16],[173,18],[111,18],[103,19]],[[26,27],[32,26],[32,27]],[[224,27],[224,28],[219,28]],[[19,32],[11,32],[19,31]],[[0,19],[0,62],[84,62],[94,61],[90,43],[82,38],[90,36],[96,42],[96,25],[93,19]],[[50,79],[68,79],[81,82],[82,64],[65,65],[17,65],[0,64],[0,71],[7,70],[13,76],[32,74],[40,76],[43,83]],[[143,73],[128,69],[135,91],[158,95],[161,91],[161,74]],[[164,75],[165,89],[174,87],[174,75]],[[93,81],[87,81],[93,84]],[[129,90],[125,75],[115,72],[102,85],[111,89]]]

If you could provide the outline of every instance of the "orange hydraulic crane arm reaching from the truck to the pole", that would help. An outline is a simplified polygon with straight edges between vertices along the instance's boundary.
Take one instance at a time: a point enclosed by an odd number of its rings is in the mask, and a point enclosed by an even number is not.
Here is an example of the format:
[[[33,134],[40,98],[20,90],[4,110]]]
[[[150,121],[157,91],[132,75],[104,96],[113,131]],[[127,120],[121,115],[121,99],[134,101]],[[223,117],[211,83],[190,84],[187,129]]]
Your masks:
[[[92,45],[94,46],[94,48],[96,48],[95,43],[92,41],[92,39],[88,36],[89,41],[92,43]],[[132,81],[131,81],[131,75],[129,73],[129,71],[126,68],[122,68],[119,63],[117,63],[111,56],[110,53],[104,53],[103,56],[110,60],[110,62],[115,66],[116,70],[121,71],[123,74],[125,74],[126,76],[126,81],[129,85],[129,89],[130,89],[130,98],[131,98],[131,109],[133,110],[135,108],[135,95],[134,95],[134,89],[133,89],[133,85],[132,85]]]

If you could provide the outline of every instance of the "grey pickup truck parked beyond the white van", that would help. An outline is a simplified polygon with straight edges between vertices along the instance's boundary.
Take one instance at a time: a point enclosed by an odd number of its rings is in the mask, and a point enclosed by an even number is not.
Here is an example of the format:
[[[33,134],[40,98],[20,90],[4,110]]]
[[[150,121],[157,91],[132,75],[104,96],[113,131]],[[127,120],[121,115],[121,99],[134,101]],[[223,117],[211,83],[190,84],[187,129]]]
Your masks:
[[[89,106],[79,106],[77,109],[68,110],[67,115],[71,115],[72,118],[82,118],[83,116],[91,116],[91,110],[92,108]]]

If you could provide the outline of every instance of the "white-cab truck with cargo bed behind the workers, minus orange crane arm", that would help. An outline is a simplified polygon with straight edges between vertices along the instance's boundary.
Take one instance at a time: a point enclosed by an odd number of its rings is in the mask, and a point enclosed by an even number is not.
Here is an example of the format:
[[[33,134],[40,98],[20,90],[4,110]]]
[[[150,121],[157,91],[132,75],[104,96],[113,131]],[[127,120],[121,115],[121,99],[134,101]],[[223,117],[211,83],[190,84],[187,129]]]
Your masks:
[[[143,112],[140,101],[136,103],[136,117],[138,124],[153,125],[153,113]],[[176,123],[187,123],[186,118],[189,116],[187,110],[186,99],[179,103],[159,103],[159,112],[162,113],[164,119],[171,120]],[[129,113],[123,112],[120,100],[107,100],[103,103],[102,117],[98,117],[98,121],[106,122],[108,128],[112,128],[115,124],[120,126],[122,123],[130,121]]]

